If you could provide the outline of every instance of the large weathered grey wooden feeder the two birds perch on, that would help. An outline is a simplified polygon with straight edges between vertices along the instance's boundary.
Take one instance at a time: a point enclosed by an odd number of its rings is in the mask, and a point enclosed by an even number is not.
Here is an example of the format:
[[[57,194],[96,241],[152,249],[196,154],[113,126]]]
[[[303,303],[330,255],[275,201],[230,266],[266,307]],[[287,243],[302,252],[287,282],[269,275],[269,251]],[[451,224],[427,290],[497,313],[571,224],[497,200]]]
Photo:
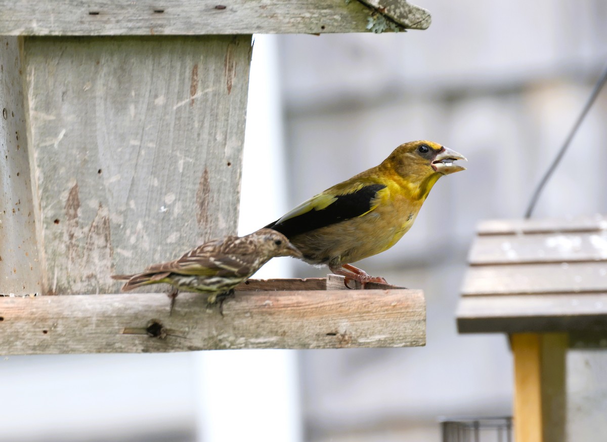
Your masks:
[[[253,33],[429,24],[392,0],[0,0],[0,354],[423,345],[416,290],[276,282],[169,317],[110,274],[236,233]]]

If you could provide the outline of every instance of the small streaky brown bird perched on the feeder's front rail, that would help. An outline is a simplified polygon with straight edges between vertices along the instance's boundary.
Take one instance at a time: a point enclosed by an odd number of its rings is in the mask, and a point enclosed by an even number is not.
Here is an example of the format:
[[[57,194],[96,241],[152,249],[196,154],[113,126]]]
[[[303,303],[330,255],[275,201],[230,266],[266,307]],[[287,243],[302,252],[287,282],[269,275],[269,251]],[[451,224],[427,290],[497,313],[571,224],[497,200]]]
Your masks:
[[[123,291],[149,284],[171,284],[174,288],[168,295],[172,311],[179,290],[208,294],[207,302],[214,304],[218,296],[228,296],[234,287],[276,256],[300,258],[302,254],[282,233],[260,229],[242,237],[214,239],[174,261],[112,278],[127,281]]]

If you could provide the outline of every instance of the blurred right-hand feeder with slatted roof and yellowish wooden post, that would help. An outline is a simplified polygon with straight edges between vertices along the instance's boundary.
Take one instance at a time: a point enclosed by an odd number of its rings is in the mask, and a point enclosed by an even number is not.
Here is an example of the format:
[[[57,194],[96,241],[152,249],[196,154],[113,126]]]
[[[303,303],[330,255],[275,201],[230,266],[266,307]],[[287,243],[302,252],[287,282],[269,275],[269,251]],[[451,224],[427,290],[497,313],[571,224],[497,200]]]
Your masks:
[[[565,352],[607,334],[607,217],[481,222],[469,264],[458,329],[510,336],[516,440],[564,441]]]

